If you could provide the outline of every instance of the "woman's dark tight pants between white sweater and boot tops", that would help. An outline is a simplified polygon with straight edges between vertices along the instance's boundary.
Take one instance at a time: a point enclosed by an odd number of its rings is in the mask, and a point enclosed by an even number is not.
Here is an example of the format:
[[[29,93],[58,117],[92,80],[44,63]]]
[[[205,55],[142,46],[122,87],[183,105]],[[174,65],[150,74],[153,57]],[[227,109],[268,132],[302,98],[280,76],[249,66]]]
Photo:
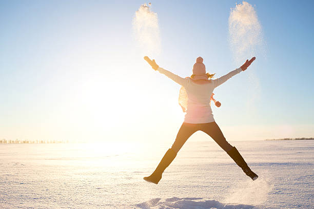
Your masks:
[[[179,150],[182,148],[183,144],[186,140],[195,132],[203,131],[208,134],[220,147],[228,152],[233,147],[226,141],[223,133],[221,132],[219,126],[216,122],[209,122],[209,123],[182,123],[182,126],[176,135],[175,141],[172,144],[171,149],[178,153]]]

